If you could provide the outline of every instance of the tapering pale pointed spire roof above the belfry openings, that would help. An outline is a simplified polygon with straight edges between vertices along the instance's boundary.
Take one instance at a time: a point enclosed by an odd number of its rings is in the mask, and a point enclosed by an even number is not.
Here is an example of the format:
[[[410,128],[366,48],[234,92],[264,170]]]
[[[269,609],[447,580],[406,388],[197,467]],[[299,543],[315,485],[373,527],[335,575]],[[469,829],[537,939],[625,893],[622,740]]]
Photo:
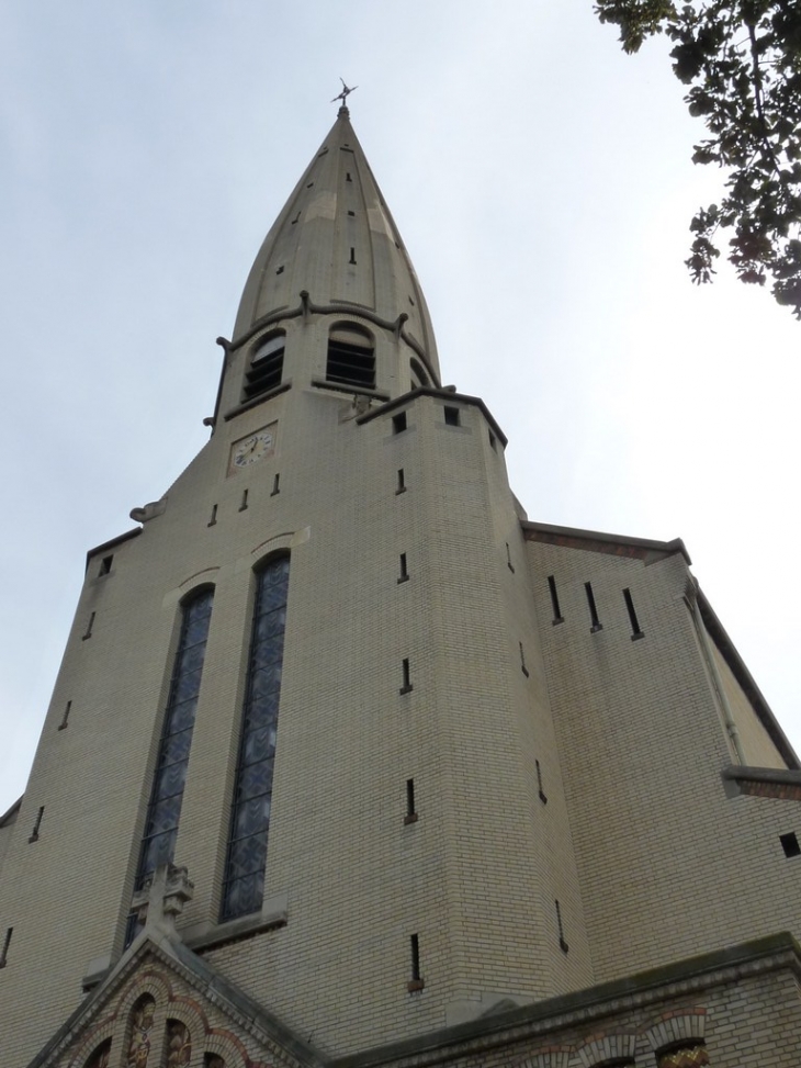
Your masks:
[[[301,293],[317,308],[392,325],[439,383],[426,300],[346,106],[259,249],[233,345],[279,310],[296,307]]]

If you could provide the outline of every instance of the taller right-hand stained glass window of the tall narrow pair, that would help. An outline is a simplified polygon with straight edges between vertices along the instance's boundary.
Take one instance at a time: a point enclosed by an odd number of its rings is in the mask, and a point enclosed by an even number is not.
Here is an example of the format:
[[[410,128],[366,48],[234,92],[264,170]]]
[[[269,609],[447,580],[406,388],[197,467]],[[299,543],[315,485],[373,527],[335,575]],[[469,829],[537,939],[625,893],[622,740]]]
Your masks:
[[[289,583],[289,557],[273,560],[258,575],[223,920],[258,912],[264,895]]]

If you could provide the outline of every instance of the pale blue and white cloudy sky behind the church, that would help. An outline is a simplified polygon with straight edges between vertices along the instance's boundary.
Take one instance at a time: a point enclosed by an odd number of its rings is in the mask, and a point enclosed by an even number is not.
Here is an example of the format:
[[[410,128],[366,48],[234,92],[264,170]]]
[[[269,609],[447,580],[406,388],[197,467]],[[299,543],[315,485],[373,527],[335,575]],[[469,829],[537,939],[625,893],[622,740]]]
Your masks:
[[[504,428],[529,517],[681,537],[801,751],[801,324],[687,277],[722,175],[664,42],[624,56],[591,0],[3,0],[0,813],[86,552],[206,440],[215,338],[340,76],[443,381]]]

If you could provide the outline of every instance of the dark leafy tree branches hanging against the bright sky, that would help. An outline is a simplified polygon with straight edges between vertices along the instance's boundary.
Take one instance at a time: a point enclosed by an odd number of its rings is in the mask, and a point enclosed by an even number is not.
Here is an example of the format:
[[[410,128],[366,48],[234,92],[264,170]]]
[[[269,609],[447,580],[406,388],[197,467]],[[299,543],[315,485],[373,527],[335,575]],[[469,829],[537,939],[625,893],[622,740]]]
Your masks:
[[[664,33],[691,115],[708,136],[697,164],[727,171],[720,204],[690,224],[686,261],[709,282],[729,232],[729,259],[743,282],[770,280],[779,304],[801,319],[801,4],[790,0],[596,0],[625,52]]]

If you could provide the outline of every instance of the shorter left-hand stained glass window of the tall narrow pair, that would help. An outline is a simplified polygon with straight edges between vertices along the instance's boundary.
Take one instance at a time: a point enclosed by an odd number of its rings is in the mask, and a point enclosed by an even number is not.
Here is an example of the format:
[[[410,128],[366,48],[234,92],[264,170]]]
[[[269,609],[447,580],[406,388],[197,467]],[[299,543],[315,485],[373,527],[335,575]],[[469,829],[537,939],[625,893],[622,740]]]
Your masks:
[[[171,863],[174,856],[213,599],[214,591],[203,589],[183,606],[181,637],[136,873],[137,889],[159,865]]]

